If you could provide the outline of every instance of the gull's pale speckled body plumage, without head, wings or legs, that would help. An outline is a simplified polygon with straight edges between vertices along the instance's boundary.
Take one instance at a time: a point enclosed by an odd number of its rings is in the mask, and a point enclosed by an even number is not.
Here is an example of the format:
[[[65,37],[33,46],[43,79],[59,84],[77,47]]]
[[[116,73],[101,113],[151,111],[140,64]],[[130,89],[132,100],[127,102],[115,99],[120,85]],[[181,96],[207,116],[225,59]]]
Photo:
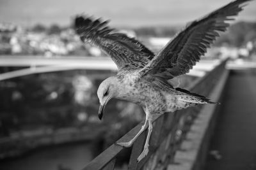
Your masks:
[[[195,103],[207,103],[200,97],[189,96],[170,87],[161,88],[154,85],[152,81],[145,78],[137,79],[136,76],[130,74],[125,74],[125,77],[122,76],[122,78],[117,75],[116,80],[111,80],[118,86],[116,89],[121,87],[117,90],[116,98],[136,103],[142,106],[144,110],[147,109],[151,115],[187,108],[190,102],[182,101],[186,97],[187,99],[188,97],[195,99]]]

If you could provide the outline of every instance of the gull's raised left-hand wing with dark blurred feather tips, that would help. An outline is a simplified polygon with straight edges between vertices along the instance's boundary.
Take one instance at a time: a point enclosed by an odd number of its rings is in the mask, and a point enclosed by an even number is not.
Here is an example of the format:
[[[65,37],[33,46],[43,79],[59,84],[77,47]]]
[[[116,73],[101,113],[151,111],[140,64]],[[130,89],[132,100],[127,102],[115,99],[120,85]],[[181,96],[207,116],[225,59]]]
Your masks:
[[[82,41],[98,46],[115,62],[118,69],[140,69],[154,57],[154,53],[134,38],[117,33],[108,27],[108,21],[79,16],[75,29]]]

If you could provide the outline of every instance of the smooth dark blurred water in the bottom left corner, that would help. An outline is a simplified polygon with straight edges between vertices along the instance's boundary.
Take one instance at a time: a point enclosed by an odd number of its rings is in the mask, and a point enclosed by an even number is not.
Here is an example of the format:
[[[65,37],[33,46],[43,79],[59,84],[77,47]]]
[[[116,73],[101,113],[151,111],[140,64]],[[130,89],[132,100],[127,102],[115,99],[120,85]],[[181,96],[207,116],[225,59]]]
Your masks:
[[[1,170],[75,170],[92,160],[92,143],[41,148],[17,159],[0,162]]]

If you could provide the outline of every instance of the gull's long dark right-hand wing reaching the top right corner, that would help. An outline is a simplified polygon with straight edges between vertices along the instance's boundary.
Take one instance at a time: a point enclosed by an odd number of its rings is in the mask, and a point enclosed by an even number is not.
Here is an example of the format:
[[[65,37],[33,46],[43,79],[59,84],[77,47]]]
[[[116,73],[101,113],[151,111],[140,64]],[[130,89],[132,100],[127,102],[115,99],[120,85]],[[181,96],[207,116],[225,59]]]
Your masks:
[[[247,1],[250,0],[233,1],[191,22],[141,69],[141,76],[154,74],[167,80],[188,73],[219,36],[218,32],[226,31],[229,24],[225,21],[234,20],[232,17],[243,10],[243,4]]]

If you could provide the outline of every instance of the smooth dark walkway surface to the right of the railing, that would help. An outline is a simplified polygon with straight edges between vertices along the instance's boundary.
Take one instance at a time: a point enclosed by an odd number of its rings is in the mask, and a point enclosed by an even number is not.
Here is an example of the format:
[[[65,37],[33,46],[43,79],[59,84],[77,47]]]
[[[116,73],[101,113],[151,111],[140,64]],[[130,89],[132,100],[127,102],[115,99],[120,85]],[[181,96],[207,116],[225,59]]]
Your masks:
[[[254,73],[253,73],[254,72]],[[232,71],[212,136],[207,170],[256,169],[256,71]]]

